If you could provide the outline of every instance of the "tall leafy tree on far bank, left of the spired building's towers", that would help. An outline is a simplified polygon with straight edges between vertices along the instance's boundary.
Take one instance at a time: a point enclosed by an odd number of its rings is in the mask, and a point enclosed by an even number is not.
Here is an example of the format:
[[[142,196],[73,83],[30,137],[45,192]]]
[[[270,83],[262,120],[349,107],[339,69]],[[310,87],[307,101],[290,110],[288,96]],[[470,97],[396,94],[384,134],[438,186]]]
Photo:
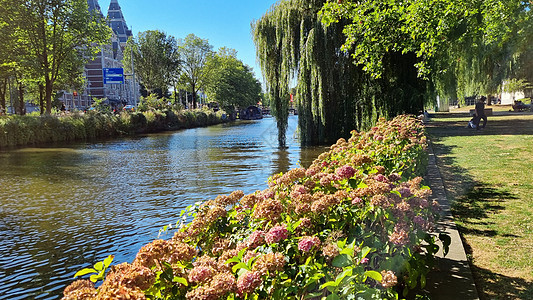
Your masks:
[[[85,0],[16,0],[10,5],[20,9],[20,18],[13,22],[38,66],[49,114],[52,97],[62,88],[58,80],[94,57],[107,42],[110,28],[96,12],[89,12]]]

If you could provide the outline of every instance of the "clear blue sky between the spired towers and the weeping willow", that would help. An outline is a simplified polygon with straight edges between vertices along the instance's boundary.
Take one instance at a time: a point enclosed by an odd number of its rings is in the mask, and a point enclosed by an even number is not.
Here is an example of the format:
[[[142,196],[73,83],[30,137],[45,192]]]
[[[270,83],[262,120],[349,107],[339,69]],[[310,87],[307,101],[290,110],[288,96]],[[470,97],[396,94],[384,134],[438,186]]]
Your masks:
[[[107,15],[110,0],[99,0]],[[145,30],[161,30],[176,38],[189,33],[208,39],[214,50],[228,47],[237,57],[254,68],[259,80],[255,47],[250,23],[259,19],[277,0],[118,0],[126,23],[133,34]]]

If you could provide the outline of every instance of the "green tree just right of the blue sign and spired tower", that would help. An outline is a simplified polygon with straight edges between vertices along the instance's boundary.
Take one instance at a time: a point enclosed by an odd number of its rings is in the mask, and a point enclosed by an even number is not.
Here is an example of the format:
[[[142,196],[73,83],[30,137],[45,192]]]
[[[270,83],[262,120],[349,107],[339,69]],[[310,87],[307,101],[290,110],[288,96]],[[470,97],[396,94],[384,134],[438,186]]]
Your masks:
[[[128,40],[124,51],[126,72],[131,72],[131,55],[139,82],[151,94],[161,89],[166,94],[173,85],[175,70],[179,68],[179,52],[176,38],[159,30],[140,32],[137,40]]]

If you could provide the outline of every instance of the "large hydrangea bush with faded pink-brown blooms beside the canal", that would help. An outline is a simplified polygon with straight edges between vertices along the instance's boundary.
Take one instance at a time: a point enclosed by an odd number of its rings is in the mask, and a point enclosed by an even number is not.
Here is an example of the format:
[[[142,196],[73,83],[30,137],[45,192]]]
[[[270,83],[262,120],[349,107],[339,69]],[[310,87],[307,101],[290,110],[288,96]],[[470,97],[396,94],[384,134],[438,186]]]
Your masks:
[[[417,177],[425,149],[415,118],[380,120],[340,139],[309,168],[269,178],[263,191],[190,206],[171,239],[113,266],[98,289],[75,281],[63,299],[412,295],[425,286],[438,250],[438,204]]]

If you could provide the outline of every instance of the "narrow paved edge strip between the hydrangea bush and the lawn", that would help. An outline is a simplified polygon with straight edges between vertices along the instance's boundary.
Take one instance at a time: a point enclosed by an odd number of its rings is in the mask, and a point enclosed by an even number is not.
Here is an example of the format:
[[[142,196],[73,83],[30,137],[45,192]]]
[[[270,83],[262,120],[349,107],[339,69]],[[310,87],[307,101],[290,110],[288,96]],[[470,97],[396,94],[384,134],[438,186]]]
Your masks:
[[[432,300],[479,299],[463,242],[450,212],[450,203],[446,197],[444,182],[431,145],[429,152],[426,180],[433,191],[433,199],[437,200],[442,208],[443,218],[438,226],[450,235],[452,242],[446,257],[443,256],[442,245],[440,245],[441,251],[437,254],[439,257],[437,270],[428,274],[426,291],[429,292]]]

